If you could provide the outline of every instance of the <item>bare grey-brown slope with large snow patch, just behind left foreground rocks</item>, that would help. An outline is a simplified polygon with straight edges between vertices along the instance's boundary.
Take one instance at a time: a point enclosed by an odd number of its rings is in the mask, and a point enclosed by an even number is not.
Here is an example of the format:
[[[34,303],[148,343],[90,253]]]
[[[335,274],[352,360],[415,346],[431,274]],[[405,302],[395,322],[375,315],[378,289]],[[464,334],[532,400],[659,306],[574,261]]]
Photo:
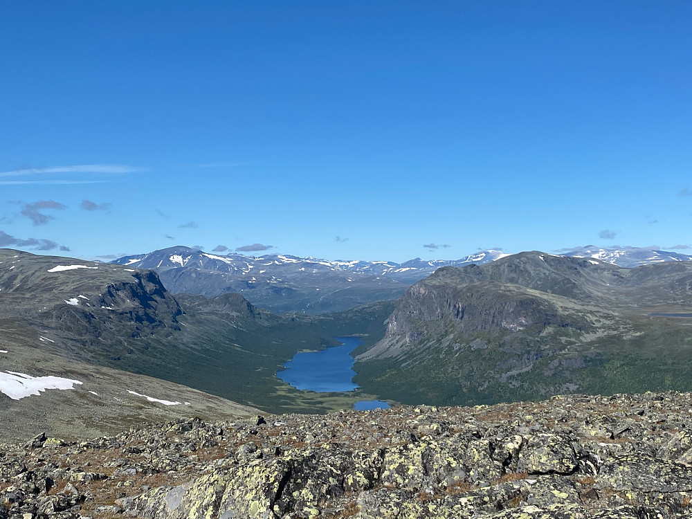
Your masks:
[[[0,302],[2,298],[0,298]],[[75,361],[52,331],[0,319],[0,441],[41,432],[115,435],[172,419],[239,419],[257,410],[149,376]]]

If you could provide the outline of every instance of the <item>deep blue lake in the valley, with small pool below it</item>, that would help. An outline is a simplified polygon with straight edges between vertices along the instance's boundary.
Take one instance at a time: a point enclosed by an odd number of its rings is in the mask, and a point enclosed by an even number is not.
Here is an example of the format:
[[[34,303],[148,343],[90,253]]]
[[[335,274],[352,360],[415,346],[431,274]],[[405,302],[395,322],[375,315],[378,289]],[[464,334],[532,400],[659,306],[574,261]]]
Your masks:
[[[318,352],[298,352],[276,376],[299,390],[327,393],[357,389],[358,384],[353,382],[355,359],[350,353],[363,341],[358,337],[336,337],[335,340],[343,344]],[[354,406],[358,410],[388,407],[388,403],[379,400],[361,401]]]

